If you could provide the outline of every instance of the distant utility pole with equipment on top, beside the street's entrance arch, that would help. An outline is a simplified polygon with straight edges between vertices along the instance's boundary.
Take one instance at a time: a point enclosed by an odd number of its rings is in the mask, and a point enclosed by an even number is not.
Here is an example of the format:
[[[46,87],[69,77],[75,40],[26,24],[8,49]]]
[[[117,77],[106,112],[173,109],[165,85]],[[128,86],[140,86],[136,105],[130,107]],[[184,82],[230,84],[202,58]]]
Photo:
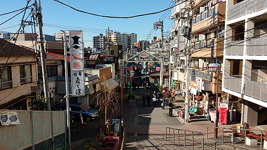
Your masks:
[[[154,29],[157,30],[159,27],[161,28],[161,43],[160,43],[160,53],[161,53],[161,59],[160,59],[160,85],[163,84],[163,20],[158,21],[153,24]]]

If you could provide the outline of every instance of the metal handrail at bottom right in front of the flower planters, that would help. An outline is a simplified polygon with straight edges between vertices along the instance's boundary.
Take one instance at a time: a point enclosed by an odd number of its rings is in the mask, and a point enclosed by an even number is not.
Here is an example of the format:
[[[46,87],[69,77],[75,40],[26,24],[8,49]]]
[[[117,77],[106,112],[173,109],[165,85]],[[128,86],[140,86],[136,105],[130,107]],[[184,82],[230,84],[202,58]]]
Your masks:
[[[253,129],[238,129],[238,128],[229,128],[229,127],[207,127],[207,139],[208,139],[208,129],[209,128],[214,128],[214,134],[215,134],[215,129],[217,128],[219,128],[219,129],[222,129],[222,130],[224,130],[224,129],[230,129],[230,130],[232,130],[232,137],[233,137],[233,132],[234,132],[234,130],[244,130],[245,131],[245,139],[246,139],[246,137],[247,137],[247,131],[260,131],[261,132],[261,150],[263,150],[263,147],[262,147],[262,145],[263,145],[263,132],[264,131],[266,131],[267,132],[267,130],[253,130]],[[223,133],[224,133],[224,131],[223,131]],[[216,141],[215,140],[215,136],[214,136],[214,141]],[[232,145],[233,145],[233,141],[234,140],[232,140]],[[223,142],[223,137],[222,137],[222,142]],[[224,142],[223,142],[224,143]],[[247,147],[247,145],[246,145],[246,140],[245,140],[245,148]]]

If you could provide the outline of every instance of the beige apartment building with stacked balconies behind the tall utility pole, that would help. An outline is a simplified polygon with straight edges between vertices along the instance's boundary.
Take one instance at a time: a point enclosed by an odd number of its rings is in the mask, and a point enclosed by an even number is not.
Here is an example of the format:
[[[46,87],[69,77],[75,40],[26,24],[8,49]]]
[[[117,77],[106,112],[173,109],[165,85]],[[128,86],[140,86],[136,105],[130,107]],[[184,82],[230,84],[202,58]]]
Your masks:
[[[179,0],[177,0],[180,3]],[[190,76],[192,70],[195,71],[195,81],[189,77],[189,102],[203,99],[203,108],[208,112],[209,103],[216,102],[216,85],[221,87],[223,64],[223,30],[225,20],[225,1],[224,0],[194,0],[192,12],[192,28],[189,35],[190,24],[186,18],[190,1],[183,2],[172,9],[172,18],[175,19],[171,27],[174,35],[171,41],[174,54],[170,58],[175,66],[172,74],[176,91],[184,93],[185,75],[187,71],[184,53],[190,51]],[[181,18],[181,19],[180,19]],[[191,36],[191,43],[187,43],[187,37]],[[185,43],[185,44],[184,44]],[[209,67],[219,66],[219,83],[216,82],[216,72],[205,72]],[[215,69],[211,69],[215,71]],[[223,91],[218,89],[218,96],[221,97]],[[205,98],[204,98],[205,97]],[[202,109],[199,110],[202,112]]]

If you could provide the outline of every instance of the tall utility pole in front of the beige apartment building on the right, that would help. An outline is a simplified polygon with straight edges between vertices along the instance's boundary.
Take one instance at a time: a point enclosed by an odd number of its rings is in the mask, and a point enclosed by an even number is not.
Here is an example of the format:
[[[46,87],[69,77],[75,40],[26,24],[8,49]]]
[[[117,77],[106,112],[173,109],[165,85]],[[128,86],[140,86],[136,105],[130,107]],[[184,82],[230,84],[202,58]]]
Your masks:
[[[193,11],[193,4],[194,1],[191,0],[190,4],[189,4],[189,8],[185,8],[185,11],[187,11],[187,13],[182,13],[183,15],[187,15],[187,16],[183,16],[183,19],[185,19],[185,21],[187,21],[187,26],[183,27],[183,31],[184,31],[184,37],[187,38],[187,43],[186,43],[186,61],[185,61],[185,65],[186,65],[186,74],[185,74],[185,114],[184,114],[184,119],[185,122],[188,122],[188,103],[189,103],[189,74],[190,74],[190,53],[191,53],[191,31],[192,31],[192,11]]]

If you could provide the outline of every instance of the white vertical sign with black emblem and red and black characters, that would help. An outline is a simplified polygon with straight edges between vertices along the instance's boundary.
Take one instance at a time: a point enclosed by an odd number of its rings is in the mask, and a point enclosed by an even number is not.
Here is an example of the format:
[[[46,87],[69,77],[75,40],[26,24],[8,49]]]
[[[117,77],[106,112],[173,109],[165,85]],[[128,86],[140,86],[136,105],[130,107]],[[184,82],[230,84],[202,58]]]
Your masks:
[[[82,31],[70,31],[72,96],[85,95],[84,42]]]

